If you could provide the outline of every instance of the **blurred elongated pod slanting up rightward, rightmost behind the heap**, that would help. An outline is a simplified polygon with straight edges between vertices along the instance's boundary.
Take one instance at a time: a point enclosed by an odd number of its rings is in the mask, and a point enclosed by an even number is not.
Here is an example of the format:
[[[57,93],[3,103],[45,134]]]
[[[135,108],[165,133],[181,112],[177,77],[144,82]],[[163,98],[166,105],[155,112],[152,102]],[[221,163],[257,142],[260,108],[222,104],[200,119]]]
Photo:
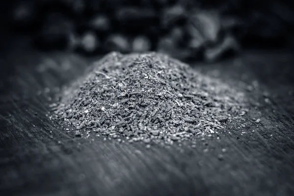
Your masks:
[[[231,35],[224,37],[221,43],[204,50],[204,60],[214,62],[240,51],[240,46]]]

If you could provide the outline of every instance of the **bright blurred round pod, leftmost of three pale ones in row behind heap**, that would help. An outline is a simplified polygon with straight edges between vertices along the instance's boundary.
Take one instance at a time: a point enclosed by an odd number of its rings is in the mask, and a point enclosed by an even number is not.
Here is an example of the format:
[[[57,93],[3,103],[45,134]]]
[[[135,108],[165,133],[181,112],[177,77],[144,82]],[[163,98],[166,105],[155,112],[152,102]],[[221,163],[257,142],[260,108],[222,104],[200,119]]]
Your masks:
[[[87,53],[93,53],[99,47],[100,43],[94,32],[88,31],[81,36],[80,47]]]

